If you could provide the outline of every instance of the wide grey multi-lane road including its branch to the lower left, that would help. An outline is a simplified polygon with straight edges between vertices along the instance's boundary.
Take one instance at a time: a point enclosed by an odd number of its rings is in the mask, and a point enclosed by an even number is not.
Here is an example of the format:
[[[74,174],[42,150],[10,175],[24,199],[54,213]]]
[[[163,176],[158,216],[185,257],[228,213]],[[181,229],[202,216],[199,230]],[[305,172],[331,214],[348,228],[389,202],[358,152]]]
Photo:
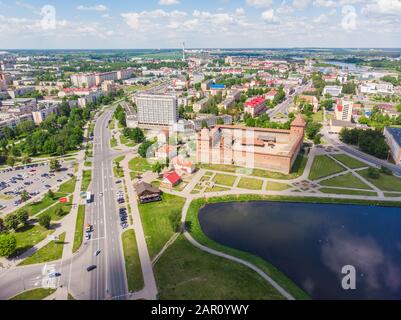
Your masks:
[[[112,167],[113,159],[122,153],[109,147],[111,133],[107,124],[112,114],[112,109],[106,110],[95,124],[93,174],[89,188],[94,201],[86,206],[85,221],[94,226],[92,238],[84,241],[72,258],[48,264],[61,273],[58,286],[67,288],[75,298],[83,300],[124,299],[128,293]],[[96,256],[97,250],[101,252]],[[96,269],[88,272],[86,268],[91,265]],[[0,299],[41,287],[43,267],[42,264],[0,268]]]

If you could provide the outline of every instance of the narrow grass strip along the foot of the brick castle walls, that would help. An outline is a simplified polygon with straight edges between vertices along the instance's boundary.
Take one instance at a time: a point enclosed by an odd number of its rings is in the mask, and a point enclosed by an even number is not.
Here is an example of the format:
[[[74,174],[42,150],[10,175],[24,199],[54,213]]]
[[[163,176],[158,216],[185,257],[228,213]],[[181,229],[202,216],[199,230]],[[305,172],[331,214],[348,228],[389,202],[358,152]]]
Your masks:
[[[284,174],[280,172],[268,171],[263,169],[253,169],[250,175],[260,178],[270,178],[270,179],[279,179],[279,180],[292,180],[300,177],[304,173],[304,169],[308,159],[302,155],[299,155],[295,160],[294,165],[292,166],[292,170],[290,174]],[[238,171],[246,170],[247,168],[231,166],[226,164],[199,164],[200,168],[206,170],[215,170],[215,171],[223,171],[228,173],[236,173]]]

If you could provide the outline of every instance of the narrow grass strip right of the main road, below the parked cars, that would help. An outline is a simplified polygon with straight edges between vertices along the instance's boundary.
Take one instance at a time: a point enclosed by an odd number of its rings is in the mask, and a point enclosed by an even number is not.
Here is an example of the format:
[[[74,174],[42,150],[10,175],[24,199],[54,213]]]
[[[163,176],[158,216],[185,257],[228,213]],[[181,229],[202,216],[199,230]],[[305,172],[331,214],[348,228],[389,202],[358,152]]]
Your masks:
[[[122,234],[122,242],[125,258],[125,270],[127,272],[129,292],[139,291],[144,286],[141,261],[139,260],[136,245],[135,231],[127,230]]]

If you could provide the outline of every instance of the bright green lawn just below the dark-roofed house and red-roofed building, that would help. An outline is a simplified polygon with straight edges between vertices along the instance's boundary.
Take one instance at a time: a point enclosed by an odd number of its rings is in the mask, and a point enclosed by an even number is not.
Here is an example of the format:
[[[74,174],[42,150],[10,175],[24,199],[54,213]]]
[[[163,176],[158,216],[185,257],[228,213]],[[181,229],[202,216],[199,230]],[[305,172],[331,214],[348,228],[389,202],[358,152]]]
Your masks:
[[[173,236],[169,216],[173,212],[181,212],[185,202],[184,198],[166,193],[162,197],[163,201],[138,206],[151,258],[154,258]]]

